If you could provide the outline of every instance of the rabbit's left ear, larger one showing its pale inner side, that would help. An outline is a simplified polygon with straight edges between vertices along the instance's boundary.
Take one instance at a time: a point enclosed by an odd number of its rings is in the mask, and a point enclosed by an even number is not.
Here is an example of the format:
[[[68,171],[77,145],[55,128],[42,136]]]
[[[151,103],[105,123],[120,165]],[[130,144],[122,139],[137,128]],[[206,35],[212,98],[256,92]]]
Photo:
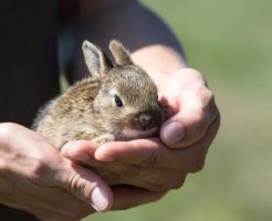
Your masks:
[[[113,67],[107,55],[95,44],[85,40],[82,51],[91,75],[100,77]]]

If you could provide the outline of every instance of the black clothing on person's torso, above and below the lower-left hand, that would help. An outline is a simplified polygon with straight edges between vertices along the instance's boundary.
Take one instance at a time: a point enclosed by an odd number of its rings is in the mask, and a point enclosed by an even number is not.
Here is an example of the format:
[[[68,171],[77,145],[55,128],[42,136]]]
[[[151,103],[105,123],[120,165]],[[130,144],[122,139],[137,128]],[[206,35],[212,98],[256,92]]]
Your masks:
[[[0,1],[0,122],[30,126],[39,106],[59,93],[56,2]],[[0,206],[0,220],[38,219]]]

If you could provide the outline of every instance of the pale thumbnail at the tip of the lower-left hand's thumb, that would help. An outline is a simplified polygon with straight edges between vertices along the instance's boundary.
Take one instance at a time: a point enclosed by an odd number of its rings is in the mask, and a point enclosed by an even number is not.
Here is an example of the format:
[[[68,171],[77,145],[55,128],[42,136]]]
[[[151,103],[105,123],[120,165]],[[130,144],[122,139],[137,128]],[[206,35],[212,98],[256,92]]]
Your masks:
[[[92,196],[91,196],[91,200],[92,200],[92,207],[101,212],[101,211],[105,211],[105,209],[108,207],[108,194],[107,192],[103,189],[103,188],[98,188],[96,187],[93,191],[92,191]]]

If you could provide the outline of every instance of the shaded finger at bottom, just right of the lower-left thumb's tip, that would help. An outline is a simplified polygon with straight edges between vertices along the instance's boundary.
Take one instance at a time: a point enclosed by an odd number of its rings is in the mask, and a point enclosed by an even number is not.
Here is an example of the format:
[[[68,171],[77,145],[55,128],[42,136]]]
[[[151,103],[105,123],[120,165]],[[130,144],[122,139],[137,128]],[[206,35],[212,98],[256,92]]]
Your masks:
[[[151,192],[136,187],[116,186],[113,187],[115,201],[114,210],[124,210],[136,206],[154,202],[163,198],[167,191]]]

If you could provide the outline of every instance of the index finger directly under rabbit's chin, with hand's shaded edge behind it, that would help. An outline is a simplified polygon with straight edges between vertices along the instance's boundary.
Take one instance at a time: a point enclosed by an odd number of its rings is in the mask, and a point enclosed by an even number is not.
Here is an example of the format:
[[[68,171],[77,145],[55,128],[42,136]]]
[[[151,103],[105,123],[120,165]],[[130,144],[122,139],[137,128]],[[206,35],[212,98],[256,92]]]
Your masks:
[[[188,148],[171,149],[159,139],[138,139],[105,144],[95,150],[94,156],[102,161],[198,171],[203,167],[208,147],[218,131],[219,124],[220,118],[210,125],[207,134],[197,144]]]

